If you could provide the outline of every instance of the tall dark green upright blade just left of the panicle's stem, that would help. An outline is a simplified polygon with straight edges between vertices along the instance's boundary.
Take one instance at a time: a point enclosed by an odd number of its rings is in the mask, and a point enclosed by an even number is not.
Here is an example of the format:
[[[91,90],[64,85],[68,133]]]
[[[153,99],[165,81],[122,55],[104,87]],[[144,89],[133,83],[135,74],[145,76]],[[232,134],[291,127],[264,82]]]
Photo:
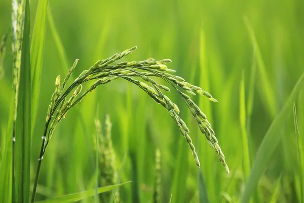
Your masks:
[[[15,186],[16,201],[29,201],[31,83],[30,83],[30,16],[29,0],[25,1],[24,31],[20,66],[20,87],[16,120]]]

